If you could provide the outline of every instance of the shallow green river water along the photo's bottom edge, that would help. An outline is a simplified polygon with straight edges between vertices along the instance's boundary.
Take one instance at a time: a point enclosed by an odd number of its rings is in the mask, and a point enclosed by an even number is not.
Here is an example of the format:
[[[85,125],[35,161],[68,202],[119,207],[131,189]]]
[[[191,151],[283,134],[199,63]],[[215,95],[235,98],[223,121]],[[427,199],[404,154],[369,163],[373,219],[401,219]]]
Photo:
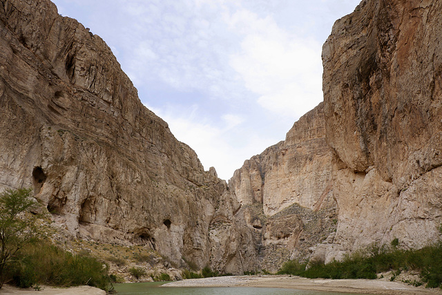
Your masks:
[[[117,295],[345,295],[349,293],[304,291],[261,287],[160,287],[163,283],[115,284]]]

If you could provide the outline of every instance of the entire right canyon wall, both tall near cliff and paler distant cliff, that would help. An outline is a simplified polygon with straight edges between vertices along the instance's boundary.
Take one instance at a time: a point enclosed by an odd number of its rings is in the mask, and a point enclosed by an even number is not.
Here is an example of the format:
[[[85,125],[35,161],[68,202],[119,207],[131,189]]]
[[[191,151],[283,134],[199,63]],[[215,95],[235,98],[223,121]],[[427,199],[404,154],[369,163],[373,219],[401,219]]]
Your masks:
[[[437,1],[367,0],[336,21],[323,46],[323,104],[229,182],[253,207],[263,265],[275,246],[278,257],[329,262],[395,238],[405,248],[440,240],[441,11]],[[305,212],[321,208],[314,231]]]

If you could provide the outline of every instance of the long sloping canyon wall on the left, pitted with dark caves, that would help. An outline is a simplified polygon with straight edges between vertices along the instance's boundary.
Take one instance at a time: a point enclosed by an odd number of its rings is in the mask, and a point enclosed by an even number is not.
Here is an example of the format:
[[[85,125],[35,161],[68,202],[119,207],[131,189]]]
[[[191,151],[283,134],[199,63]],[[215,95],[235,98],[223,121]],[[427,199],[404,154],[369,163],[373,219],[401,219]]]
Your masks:
[[[0,110],[0,189],[33,187],[67,236],[253,268],[226,182],[142,105],[104,41],[50,1],[0,1]],[[228,236],[215,240],[220,223]]]

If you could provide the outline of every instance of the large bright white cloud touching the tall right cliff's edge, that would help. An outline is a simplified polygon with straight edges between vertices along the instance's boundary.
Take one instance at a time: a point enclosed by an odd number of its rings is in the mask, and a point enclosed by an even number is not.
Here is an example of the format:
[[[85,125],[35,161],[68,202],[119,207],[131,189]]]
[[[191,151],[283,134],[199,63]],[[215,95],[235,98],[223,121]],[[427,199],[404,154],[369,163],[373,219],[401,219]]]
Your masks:
[[[289,34],[267,17],[248,11],[228,19],[244,35],[239,53],[230,56],[231,66],[258,103],[284,117],[300,117],[322,99],[320,44]]]

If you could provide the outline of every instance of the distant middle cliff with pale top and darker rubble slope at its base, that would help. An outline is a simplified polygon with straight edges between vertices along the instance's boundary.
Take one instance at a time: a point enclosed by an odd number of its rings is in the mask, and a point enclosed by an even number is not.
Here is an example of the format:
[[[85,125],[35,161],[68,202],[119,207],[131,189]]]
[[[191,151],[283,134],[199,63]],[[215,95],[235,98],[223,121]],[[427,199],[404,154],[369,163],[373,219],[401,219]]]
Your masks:
[[[276,271],[333,236],[336,202],[323,104],[300,118],[283,142],[244,162],[229,187],[255,234],[260,267]]]

